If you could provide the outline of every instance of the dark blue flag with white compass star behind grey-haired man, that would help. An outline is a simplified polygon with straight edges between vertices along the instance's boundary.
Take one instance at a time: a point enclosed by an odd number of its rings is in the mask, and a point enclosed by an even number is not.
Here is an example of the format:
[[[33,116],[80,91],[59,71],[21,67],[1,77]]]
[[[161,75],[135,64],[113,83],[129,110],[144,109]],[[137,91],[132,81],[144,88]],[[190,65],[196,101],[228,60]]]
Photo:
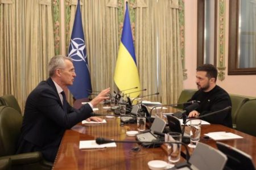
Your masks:
[[[90,83],[90,72],[85,49],[84,31],[82,31],[80,1],[78,1],[76,8],[76,16],[68,48],[68,57],[72,58],[76,71],[75,81],[72,86],[68,87],[69,91],[71,91],[75,99],[88,97],[89,94],[87,90],[92,90],[92,84]]]

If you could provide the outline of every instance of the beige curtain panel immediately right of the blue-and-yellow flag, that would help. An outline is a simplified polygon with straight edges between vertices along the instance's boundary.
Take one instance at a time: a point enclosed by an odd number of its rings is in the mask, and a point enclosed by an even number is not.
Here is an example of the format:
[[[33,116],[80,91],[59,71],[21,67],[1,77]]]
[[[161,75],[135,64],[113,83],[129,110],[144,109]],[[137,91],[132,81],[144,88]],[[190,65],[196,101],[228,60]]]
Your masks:
[[[158,56],[156,54],[156,6],[154,1],[135,1],[135,53],[142,88],[147,88],[143,95],[155,94],[158,87]],[[158,101],[158,95],[148,96],[144,100]]]

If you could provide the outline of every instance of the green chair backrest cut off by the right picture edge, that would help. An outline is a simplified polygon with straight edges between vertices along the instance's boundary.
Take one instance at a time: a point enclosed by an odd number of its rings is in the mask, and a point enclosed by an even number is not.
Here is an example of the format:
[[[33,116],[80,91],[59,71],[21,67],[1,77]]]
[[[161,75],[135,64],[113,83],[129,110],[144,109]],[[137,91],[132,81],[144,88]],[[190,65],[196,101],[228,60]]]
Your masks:
[[[237,113],[237,130],[256,137],[256,99],[248,100]]]

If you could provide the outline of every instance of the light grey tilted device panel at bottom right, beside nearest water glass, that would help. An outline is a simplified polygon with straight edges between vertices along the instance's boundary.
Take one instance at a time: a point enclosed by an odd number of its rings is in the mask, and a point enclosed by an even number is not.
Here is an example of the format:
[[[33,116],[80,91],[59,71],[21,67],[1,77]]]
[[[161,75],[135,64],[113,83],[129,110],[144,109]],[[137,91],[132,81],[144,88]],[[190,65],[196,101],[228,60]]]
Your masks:
[[[189,163],[197,169],[215,170],[223,169],[227,160],[228,158],[221,151],[199,142],[189,159]]]

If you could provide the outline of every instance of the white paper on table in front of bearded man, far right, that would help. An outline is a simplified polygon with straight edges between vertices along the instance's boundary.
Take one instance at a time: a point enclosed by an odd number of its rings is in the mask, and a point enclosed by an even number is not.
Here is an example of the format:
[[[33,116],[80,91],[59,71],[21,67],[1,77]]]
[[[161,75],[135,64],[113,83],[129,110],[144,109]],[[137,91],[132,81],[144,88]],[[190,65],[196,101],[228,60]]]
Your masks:
[[[225,132],[225,131],[216,131],[216,132],[211,132],[204,135],[207,135],[208,137],[212,138],[214,141],[243,138],[240,135],[233,134],[230,132]]]

